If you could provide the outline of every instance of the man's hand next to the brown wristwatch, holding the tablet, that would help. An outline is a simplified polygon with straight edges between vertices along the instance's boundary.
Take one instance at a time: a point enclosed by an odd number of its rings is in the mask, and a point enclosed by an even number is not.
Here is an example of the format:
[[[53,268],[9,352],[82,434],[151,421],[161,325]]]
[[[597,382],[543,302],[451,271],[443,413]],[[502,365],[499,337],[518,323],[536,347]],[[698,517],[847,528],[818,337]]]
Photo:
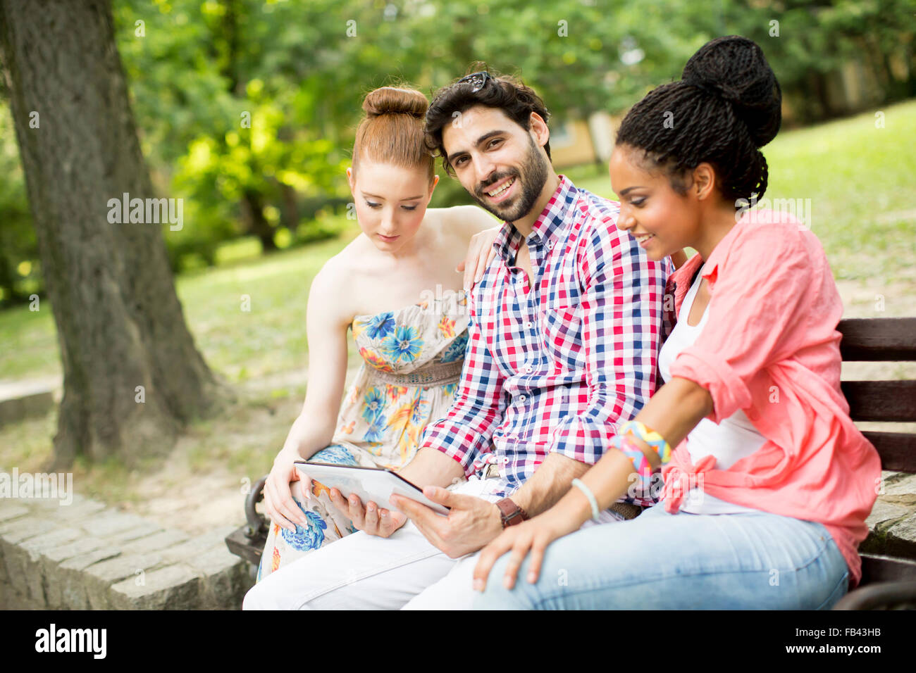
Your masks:
[[[391,504],[409,516],[420,533],[450,559],[484,547],[503,530],[499,507],[483,498],[454,494],[439,486],[427,486],[423,494],[434,503],[451,507],[449,516],[436,514],[426,505],[401,495],[392,495]]]

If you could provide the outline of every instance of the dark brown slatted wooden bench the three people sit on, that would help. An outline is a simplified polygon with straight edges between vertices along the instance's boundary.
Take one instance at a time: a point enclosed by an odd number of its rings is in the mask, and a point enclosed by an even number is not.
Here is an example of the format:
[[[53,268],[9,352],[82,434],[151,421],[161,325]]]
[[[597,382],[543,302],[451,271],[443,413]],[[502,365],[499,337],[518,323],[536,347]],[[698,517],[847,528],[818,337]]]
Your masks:
[[[842,320],[837,329],[843,334],[840,351],[845,362],[916,362],[916,318]],[[916,381],[845,381],[842,388],[853,420],[916,422]],[[878,449],[884,470],[916,473],[916,433],[866,431],[865,436]],[[247,525],[226,537],[229,550],[255,568],[267,542],[267,520],[256,511],[266,479],[259,480],[245,499]],[[875,551],[861,553],[859,588],[834,609],[916,606],[916,550],[887,553],[874,535],[862,548]]]

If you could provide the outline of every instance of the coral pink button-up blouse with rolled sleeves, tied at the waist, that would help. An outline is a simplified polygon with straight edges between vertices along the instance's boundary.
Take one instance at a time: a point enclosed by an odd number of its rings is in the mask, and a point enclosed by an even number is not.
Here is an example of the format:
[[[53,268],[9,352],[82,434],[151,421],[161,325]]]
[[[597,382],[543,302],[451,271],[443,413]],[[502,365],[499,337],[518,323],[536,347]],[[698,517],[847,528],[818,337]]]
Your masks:
[[[702,264],[694,255],[671,276],[675,316]],[[823,524],[855,587],[881,465],[840,392],[843,304],[823,247],[791,215],[749,211],[715,246],[703,277],[709,317],[671,376],[709,391],[715,423],[742,409],[767,442],[715,470],[714,456],[692,464],[685,440],[662,468],[665,507],[677,512],[702,472],[707,494]]]

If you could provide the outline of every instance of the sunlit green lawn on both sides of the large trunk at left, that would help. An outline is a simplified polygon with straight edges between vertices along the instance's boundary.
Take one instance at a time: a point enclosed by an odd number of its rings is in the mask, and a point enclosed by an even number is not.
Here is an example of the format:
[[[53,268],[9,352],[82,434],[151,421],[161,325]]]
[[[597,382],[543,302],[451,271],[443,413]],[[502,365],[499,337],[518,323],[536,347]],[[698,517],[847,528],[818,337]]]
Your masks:
[[[177,277],[185,319],[207,363],[230,382],[305,367],[311,279],[356,233],[353,223],[338,238],[256,258],[251,241],[231,242],[217,255],[222,266]],[[38,308],[0,312],[0,380],[60,374],[50,303],[42,299]]]

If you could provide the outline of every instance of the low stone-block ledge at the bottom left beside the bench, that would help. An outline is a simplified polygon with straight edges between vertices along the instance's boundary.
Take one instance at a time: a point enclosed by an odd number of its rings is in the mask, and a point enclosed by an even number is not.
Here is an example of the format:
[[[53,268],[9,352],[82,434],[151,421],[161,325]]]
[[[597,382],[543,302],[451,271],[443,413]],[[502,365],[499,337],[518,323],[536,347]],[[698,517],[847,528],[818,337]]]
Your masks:
[[[222,526],[191,537],[73,494],[0,499],[2,609],[241,608],[252,586]]]

